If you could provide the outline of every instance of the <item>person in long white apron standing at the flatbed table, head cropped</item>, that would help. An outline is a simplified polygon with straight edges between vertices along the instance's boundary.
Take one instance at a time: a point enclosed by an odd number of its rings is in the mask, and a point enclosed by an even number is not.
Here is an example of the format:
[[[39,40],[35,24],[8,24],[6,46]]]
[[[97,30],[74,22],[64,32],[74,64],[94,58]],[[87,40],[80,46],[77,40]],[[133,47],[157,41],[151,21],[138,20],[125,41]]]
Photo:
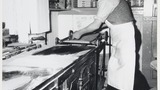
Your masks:
[[[73,33],[73,39],[94,32],[103,23],[111,30],[112,55],[108,62],[107,90],[133,90],[136,53],[134,18],[125,0],[99,0],[94,21]],[[147,84],[148,85],[148,84]],[[149,90],[149,86],[139,90]]]

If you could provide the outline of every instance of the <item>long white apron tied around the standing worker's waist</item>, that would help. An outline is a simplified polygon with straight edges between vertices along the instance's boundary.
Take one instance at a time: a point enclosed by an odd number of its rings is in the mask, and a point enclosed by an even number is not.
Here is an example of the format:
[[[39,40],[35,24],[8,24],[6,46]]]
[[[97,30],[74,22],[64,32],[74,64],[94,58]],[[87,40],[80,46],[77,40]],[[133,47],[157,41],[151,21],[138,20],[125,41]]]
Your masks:
[[[112,55],[108,62],[107,83],[119,90],[133,90],[135,74],[135,38],[132,22],[112,25]]]

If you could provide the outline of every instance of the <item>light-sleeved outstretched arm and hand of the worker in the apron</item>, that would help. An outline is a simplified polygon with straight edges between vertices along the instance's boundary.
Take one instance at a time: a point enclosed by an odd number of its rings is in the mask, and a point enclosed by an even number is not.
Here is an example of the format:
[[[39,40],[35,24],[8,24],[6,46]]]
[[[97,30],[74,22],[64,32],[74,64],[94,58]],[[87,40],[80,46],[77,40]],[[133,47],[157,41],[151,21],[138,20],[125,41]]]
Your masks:
[[[98,1],[98,12],[95,16],[95,20],[87,27],[75,32],[73,39],[79,39],[83,34],[93,32],[97,30],[100,25],[106,20],[109,14],[117,7],[120,0],[99,0]]]

